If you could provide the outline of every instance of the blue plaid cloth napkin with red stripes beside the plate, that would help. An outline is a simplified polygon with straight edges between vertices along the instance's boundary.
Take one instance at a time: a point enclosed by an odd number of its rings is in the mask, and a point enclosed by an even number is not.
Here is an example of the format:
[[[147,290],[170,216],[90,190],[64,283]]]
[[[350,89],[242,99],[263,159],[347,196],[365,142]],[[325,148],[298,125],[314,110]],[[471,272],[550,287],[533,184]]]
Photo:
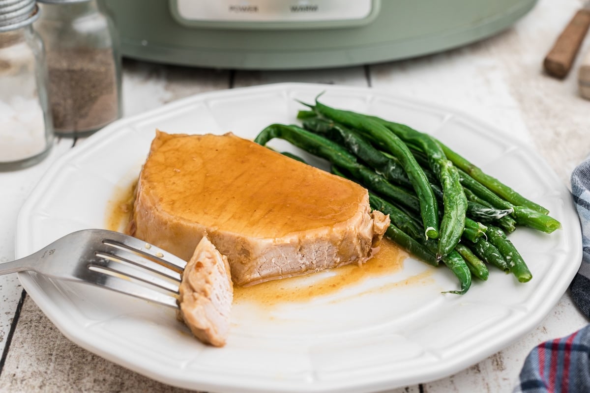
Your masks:
[[[573,302],[590,319],[590,160],[572,173],[572,194],[582,224],[582,266],[572,280]],[[534,348],[513,393],[590,392],[590,325]]]

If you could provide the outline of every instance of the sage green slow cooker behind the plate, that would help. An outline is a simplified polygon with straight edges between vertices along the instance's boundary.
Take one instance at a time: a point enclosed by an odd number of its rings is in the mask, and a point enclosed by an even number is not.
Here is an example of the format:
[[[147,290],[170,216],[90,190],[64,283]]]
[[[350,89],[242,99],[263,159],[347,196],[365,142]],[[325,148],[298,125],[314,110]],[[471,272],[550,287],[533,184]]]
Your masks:
[[[536,0],[104,0],[127,57],[237,69],[337,67],[444,51]]]

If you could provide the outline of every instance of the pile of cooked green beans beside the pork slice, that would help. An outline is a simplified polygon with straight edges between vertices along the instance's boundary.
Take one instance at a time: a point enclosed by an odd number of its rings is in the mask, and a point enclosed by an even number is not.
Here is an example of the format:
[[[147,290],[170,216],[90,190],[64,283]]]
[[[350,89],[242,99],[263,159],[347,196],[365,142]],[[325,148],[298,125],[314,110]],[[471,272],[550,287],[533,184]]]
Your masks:
[[[461,289],[450,293],[466,293],[471,275],[487,280],[487,265],[512,272],[519,282],[532,278],[506,234],[517,225],[558,229],[547,209],[428,134],[317,100],[305,105],[310,110],[298,115],[303,127],[271,124],[255,142],[289,141],[366,187],[371,207],[389,214],[386,236],[432,266],[442,261],[458,278]]]

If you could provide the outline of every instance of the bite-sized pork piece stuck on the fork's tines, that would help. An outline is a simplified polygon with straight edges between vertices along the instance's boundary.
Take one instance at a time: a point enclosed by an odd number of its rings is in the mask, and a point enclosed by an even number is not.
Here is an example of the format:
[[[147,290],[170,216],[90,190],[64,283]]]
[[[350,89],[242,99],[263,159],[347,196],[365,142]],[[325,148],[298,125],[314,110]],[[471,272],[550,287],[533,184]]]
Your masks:
[[[224,346],[234,299],[230,265],[207,236],[202,237],[182,273],[176,317],[202,342]]]

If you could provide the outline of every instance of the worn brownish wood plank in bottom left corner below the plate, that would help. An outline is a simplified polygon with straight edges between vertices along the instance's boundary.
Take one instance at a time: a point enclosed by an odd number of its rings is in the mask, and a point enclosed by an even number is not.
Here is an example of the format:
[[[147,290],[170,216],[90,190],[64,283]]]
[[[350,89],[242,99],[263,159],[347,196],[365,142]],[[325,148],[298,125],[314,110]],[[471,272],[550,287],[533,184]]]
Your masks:
[[[73,344],[38,309],[24,302],[0,378],[1,392],[188,393],[131,372]]]

